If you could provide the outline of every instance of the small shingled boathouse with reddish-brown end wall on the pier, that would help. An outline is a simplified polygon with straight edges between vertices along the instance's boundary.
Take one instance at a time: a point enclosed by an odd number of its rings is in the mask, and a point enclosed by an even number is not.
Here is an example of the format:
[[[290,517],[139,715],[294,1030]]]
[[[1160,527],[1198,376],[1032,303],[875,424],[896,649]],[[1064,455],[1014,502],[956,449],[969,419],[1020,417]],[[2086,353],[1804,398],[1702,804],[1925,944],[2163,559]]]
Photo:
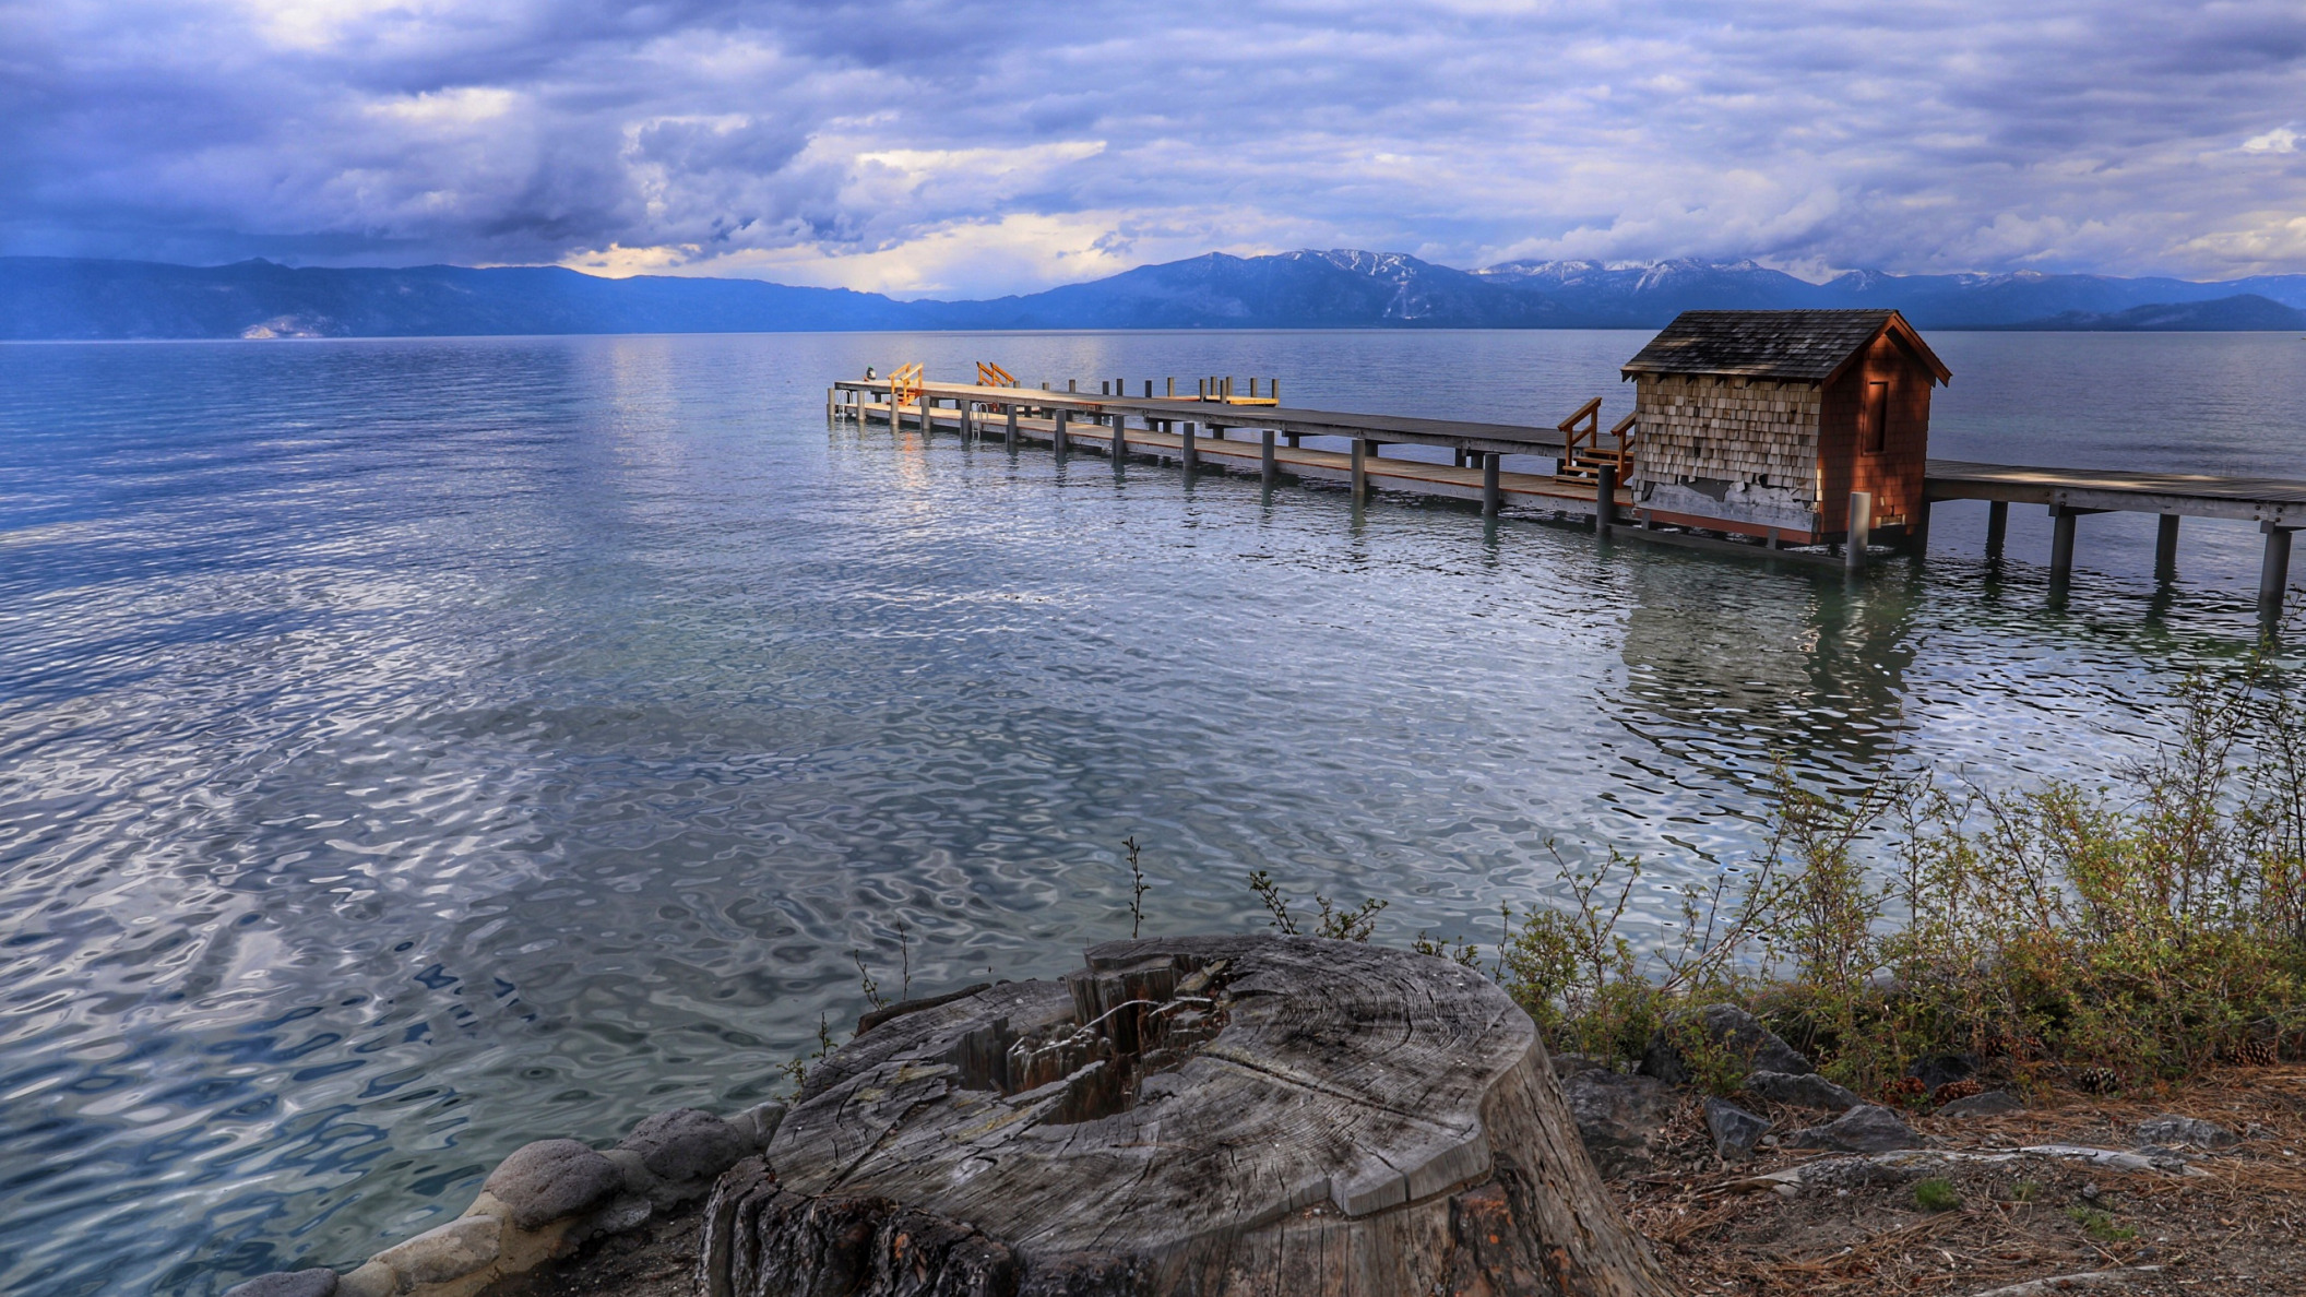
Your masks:
[[[1905,316],[1681,312],[1621,369],[1635,381],[1633,505],[1665,524],[1803,545],[1923,517],[1930,388],[1953,372]]]

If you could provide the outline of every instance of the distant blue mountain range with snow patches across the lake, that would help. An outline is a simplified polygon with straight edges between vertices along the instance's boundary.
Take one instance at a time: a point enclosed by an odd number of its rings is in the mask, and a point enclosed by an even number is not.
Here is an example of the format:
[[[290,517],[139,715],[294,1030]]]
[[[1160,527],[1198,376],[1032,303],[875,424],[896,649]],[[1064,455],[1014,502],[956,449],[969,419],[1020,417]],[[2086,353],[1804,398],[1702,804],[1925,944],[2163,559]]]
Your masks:
[[[1753,261],[1206,254],[992,300],[759,279],[602,279],[551,265],[288,268],[0,256],[0,339],[1082,328],[1658,328],[1683,309],[1896,307],[1919,328],[2299,330],[2306,275],[1884,275],[1810,284]]]

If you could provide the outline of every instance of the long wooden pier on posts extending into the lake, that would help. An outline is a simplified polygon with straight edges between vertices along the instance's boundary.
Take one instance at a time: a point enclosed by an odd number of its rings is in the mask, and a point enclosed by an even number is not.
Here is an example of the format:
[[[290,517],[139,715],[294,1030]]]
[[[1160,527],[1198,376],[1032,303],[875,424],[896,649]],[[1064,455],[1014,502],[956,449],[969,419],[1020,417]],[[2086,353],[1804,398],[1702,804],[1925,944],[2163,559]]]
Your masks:
[[[1174,462],[1181,468],[1224,468],[1259,475],[1275,485],[1282,475],[1317,482],[1342,482],[1356,501],[1370,492],[1393,489],[1423,496],[1478,501],[1483,515],[1497,517],[1504,505],[1538,508],[1582,522],[1610,538],[1635,538],[1660,545],[1766,554],[1771,558],[1861,568],[1868,538],[1842,545],[1833,556],[1819,549],[1817,535],[1778,533],[1739,535],[1718,519],[1644,508],[1617,485],[1619,466],[1603,462],[1598,471],[1575,459],[1573,436],[1563,427],[1524,427],[1478,420],[1439,420],[1409,415],[1374,415],[1314,411],[1278,404],[1275,397],[1236,397],[1229,385],[1204,381],[1204,395],[1116,395],[1054,392],[1047,388],[1010,388],[982,383],[902,383],[892,402],[886,378],[844,378],[826,392],[826,415],[858,425],[952,429],[964,436],[989,436],[1010,443],[1047,443],[1054,450],[1095,448],[1125,457]],[[1146,390],[1151,392],[1151,383]],[[1169,383],[1167,390],[1176,385]],[[1278,388],[1278,385],[1275,385]],[[1587,418],[1589,408],[1573,415]],[[1570,425],[1573,420],[1563,420]],[[1305,438],[1342,438],[1349,450],[1319,450]],[[1453,452],[1450,464],[1386,457],[1386,445],[1434,445]],[[1118,448],[1118,455],[1116,455]],[[1506,455],[1554,459],[1554,471],[1508,473]],[[1584,468],[1580,473],[1580,468]],[[1916,526],[1898,540],[1919,554],[1928,542],[1930,503],[1985,501],[1988,558],[2002,558],[2011,503],[2039,503],[2055,519],[2050,577],[2066,582],[2073,572],[2075,519],[2096,512],[2151,512],[2161,517],[2156,575],[2168,579],[2177,568],[2177,533],[2181,517],[2258,522],[2264,531],[2264,563],[2258,605],[2264,618],[2276,618],[2290,579],[2290,533],[2306,526],[2306,482],[2276,478],[2216,478],[2195,473],[2131,473],[2087,468],[2034,468],[2018,464],[1974,464],[1930,459],[1923,508]],[[1863,512],[1866,503],[1854,501]],[[1794,549],[1794,547],[1806,549]]]

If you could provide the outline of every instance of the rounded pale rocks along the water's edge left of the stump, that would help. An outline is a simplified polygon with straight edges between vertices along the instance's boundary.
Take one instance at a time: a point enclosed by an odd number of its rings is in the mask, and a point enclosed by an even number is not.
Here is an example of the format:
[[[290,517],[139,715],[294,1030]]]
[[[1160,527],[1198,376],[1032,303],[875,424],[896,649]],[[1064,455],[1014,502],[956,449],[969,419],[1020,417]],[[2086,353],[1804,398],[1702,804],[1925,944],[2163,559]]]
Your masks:
[[[738,1161],[768,1147],[784,1103],[736,1117],[673,1108],[616,1147],[537,1140],[512,1152],[461,1216],[392,1244],[339,1274],[330,1267],[258,1274],[224,1297],[473,1297],[487,1285],[574,1253],[600,1235],[636,1230],[706,1198]]]

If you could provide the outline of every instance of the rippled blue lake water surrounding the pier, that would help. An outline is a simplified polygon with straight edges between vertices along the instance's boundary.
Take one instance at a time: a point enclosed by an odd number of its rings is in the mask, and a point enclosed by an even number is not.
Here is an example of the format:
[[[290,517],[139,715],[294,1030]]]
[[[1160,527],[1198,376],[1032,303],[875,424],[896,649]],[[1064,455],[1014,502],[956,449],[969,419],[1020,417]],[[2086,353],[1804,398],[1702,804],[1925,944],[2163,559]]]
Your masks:
[[[2306,342],[1939,335],[1942,455],[2299,475]],[[2082,524],[2052,605],[1527,519],[828,432],[832,376],[1231,372],[1626,408],[1640,335],[0,348],[0,1290],[353,1262],[542,1135],[777,1087],[915,988],[1259,923],[1487,939],[1566,859],[1755,845],[1771,759],[2098,773],[2251,632],[2258,535]],[[1644,914],[1667,914],[1644,895]]]

